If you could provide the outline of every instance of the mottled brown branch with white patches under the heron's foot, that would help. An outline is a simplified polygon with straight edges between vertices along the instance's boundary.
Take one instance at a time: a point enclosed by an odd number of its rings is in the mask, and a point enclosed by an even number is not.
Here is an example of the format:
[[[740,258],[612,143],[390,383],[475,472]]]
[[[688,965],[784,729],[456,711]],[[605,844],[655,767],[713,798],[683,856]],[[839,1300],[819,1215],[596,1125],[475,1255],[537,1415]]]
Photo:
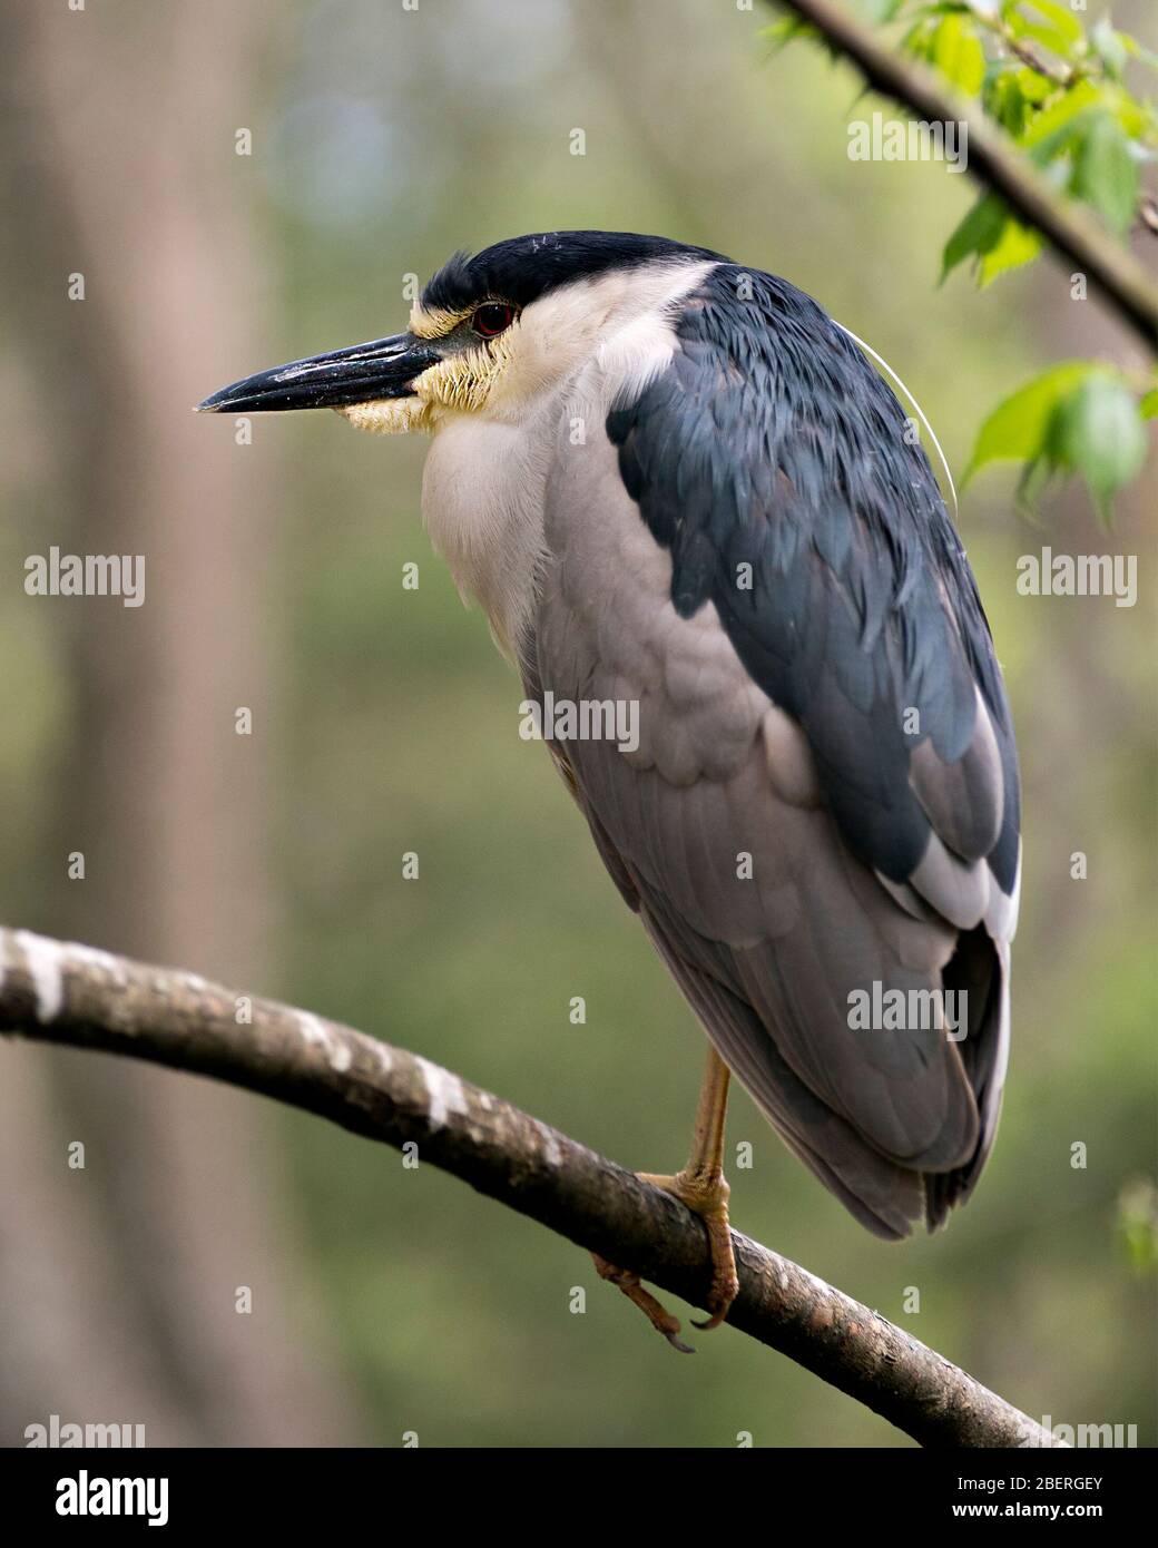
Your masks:
[[[197,974],[0,929],[0,1031],[215,1076],[370,1139],[413,1141],[424,1161],[478,1192],[703,1305],[706,1237],[681,1203],[449,1070],[348,1026]],[[740,1294],[728,1320],[921,1444],[1059,1444],[788,1259],[738,1234],[735,1255]]]

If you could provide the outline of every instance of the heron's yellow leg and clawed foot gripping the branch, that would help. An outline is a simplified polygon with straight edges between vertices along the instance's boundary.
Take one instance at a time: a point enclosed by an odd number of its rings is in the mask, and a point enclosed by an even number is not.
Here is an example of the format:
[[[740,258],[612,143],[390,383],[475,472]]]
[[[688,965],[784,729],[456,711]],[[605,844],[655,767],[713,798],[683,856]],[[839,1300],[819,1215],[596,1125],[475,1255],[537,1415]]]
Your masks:
[[[695,1110],[695,1132],[692,1135],[692,1153],[687,1166],[675,1176],[660,1176],[652,1172],[641,1172],[644,1183],[661,1187],[681,1200],[692,1214],[698,1215],[707,1231],[707,1245],[712,1254],[712,1288],[707,1294],[709,1317],[694,1327],[718,1328],[728,1316],[728,1308],[735,1300],[740,1288],[735,1276],[735,1255],[732,1254],[732,1232],[728,1226],[728,1195],[731,1189],[723,1175],[723,1144],[725,1115],[728,1111],[729,1070],[715,1048],[707,1046],[707,1063],[704,1067],[703,1085],[700,1087],[700,1102]],[[615,1268],[605,1259],[596,1257],[594,1266],[602,1279],[618,1285],[650,1320],[667,1342],[684,1353],[690,1353],[686,1344],[680,1342],[680,1322],[639,1283],[639,1276]]]

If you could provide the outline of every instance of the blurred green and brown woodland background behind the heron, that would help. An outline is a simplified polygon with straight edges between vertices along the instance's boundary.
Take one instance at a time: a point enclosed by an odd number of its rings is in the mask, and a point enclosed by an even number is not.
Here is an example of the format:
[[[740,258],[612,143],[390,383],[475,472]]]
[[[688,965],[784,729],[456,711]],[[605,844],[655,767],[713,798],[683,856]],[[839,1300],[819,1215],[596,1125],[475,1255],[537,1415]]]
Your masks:
[[[1147,36],[1141,0],[1115,20]],[[1048,262],[986,294],[961,274],[938,289],[969,180],[848,161],[855,77],[800,45],[771,57],[766,22],[734,0],[9,8],[6,923],[286,998],[627,1166],[681,1163],[700,1033],[429,551],[424,446],[331,415],[257,418],[237,444],[189,409],[396,331],[407,276],[455,248],[582,226],[785,274],[899,370],[957,469],[988,409],[1050,362],[1141,364]],[[1034,1416],[1136,1424],[1143,1444],[1153,1282],[1122,1200],[1155,1166],[1152,472],[1112,533],[1074,491],[1019,514],[1012,474],[961,505],[1026,813],[1012,1067],[974,1201],[889,1246],[745,1094],[729,1127],[754,1147],[732,1170],[742,1229]],[[25,559],[53,543],[146,554],[146,605],[25,596]],[[1138,605],[1020,598],[1017,556],[1045,543],[1138,554]],[[582,1252],[430,1167],[224,1087],[14,1042],[0,1303],[9,1446],[50,1413],[144,1423],[150,1444],[907,1444],[735,1333],[673,1356]]]

